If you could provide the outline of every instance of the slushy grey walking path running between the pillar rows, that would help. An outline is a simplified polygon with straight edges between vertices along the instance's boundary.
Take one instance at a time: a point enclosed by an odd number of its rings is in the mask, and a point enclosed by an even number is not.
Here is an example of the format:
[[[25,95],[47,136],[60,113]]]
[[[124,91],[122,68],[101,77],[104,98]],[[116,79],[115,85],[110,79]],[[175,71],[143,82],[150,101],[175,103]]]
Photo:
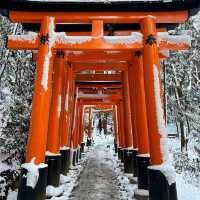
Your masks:
[[[80,175],[78,186],[72,192],[71,200],[120,199],[118,180],[105,148],[98,144],[89,152],[87,164]]]

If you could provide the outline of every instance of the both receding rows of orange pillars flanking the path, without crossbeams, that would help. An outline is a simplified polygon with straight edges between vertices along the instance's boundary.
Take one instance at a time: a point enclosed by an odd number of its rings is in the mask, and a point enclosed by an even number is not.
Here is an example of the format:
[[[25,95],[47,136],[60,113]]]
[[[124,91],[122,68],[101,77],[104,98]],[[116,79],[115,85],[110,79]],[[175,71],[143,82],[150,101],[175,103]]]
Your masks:
[[[44,17],[40,34],[48,35],[50,29],[50,17]],[[169,185],[159,170],[148,168],[165,162],[159,127],[162,116],[158,115],[157,108],[162,92],[160,87],[159,98],[156,98],[155,75],[158,72],[160,78],[160,61],[155,19],[142,19],[141,29],[143,52],[137,52],[129,70],[122,72],[122,99],[115,105],[115,146],[126,172],[133,170],[138,176],[139,189],[149,189],[151,200],[176,200],[175,183]],[[50,44],[51,41],[44,40],[39,46],[26,154],[27,163],[34,161],[40,165],[46,162],[48,167],[39,169],[39,180],[34,189],[26,185],[27,171],[23,170],[19,200],[45,199],[46,181],[58,186],[59,174],[68,171],[70,149],[75,164],[83,144],[84,106],[77,97],[74,73],[62,52],[53,55]],[[91,126],[89,124],[89,131]]]

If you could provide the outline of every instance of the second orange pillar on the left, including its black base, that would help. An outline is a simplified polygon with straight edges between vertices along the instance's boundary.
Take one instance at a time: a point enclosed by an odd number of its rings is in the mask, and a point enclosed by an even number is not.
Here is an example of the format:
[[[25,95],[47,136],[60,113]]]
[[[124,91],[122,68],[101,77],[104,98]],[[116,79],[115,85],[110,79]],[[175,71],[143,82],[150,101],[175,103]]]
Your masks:
[[[60,182],[60,135],[59,125],[61,117],[62,79],[64,72],[64,57],[58,52],[54,61],[53,88],[49,113],[49,127],[47,135],[46,163],[48,164],[47,184],[57,187]]]

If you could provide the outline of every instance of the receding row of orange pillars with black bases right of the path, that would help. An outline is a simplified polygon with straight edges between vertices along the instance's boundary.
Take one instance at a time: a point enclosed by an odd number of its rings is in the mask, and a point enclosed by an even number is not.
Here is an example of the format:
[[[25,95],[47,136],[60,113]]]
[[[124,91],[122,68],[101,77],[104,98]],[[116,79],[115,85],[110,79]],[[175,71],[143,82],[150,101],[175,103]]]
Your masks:
[[[158,47],[150,40],[156,35],[154,20],[144,19],[141,28],[144,49],[123,72],[123,99],[114,109],[115,151],[124,172],[138,178],[138,189],[149,190],[149,199],[177,200],[176,183],[169,183],[158,168],[166,162],[161,141],[167,136],[160,128],[165,122]]]

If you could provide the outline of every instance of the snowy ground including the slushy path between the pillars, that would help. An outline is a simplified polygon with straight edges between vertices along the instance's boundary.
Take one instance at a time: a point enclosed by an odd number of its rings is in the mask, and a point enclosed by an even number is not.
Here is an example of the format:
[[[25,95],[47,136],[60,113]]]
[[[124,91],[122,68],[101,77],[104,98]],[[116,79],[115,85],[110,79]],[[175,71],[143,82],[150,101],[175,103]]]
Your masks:
[[[94,135],[95,145],[85,149],[82,161],[72,167],[68,176],[61,175],[60,186],[47,187],[50,200],[134,200],[136,184],[131,174],[124,174],[123,164],[113,151],[113,137]],[[179,200],[199,200],[200,191],[177,175]],[[48,195],[47,195],[48,196]],[[10,191],[7,200],[16,200],[17,191]]]

